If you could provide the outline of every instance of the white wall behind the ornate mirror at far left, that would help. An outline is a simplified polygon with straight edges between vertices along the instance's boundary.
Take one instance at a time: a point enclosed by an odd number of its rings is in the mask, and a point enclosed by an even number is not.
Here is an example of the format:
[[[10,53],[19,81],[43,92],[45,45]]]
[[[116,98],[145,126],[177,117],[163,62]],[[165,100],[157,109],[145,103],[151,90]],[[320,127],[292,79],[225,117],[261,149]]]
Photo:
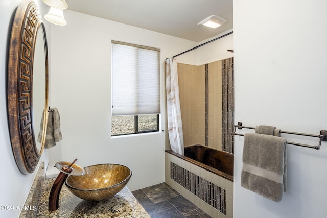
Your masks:
[[[10,34],[15,9],[20,0],[0,1],[0,206],[14,206],[13,211],[0,210],[0,217],[18,217],[17,206],[24,205],[31,188],[35,173],[23,175],[20,173],[11,149],[8,129],[7,113],[7,69]],[[41,1],[35,1],[41,15],[46,13],[46,6]],[[48,25],[46,25],[48,28]],[[41,156],[41,161],[48,162],[46,152]],[[38,167],[37,167],[38,168]]]

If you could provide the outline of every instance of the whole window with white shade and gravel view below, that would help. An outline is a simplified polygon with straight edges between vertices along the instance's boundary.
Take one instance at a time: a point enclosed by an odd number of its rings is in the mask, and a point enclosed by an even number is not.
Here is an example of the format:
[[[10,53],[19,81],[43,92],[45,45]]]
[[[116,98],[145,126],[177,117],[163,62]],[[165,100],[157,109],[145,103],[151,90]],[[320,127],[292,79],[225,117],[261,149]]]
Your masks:
[[[159,52],[112,41],[111,135],[159,131]]]

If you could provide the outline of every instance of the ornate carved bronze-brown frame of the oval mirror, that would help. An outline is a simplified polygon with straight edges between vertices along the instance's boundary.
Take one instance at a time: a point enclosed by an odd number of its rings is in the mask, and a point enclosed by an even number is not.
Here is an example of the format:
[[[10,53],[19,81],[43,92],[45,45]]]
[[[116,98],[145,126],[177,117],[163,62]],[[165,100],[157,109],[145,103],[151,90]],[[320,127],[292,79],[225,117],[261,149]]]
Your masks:
[[[33,124],[33,65],[37,33],[42,31],[45,58],[45,98],[42,124]],[[35,84],[34,84],[35,85]],[[22,174],[33,173],[44,149],[48,122],[48,46],[45,27],[36,4],[23,0],[13,21],[7,87],[8,121],[11,146]],[[36,147],[35,131],[39,127],[41,148]],[[38,134],[38,133],[37,133]]]

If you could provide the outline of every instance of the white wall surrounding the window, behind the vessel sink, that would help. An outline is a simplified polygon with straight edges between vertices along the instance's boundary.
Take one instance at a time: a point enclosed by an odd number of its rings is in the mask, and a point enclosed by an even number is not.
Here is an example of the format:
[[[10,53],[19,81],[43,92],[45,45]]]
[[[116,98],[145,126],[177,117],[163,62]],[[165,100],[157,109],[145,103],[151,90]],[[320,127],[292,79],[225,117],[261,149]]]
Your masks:
[[[69,10],[64,16],[66,26],[51,26],[50,43],[50,106],[59,110],[63,140],[49,149],[47,174],[55,162],[77,158],[82,167],[129,166],[130,190],[164,182],[164,122],[158,133],[110,136],[111,40],[161,49],[161,120],[165,120],[164,60],[197,44]]]

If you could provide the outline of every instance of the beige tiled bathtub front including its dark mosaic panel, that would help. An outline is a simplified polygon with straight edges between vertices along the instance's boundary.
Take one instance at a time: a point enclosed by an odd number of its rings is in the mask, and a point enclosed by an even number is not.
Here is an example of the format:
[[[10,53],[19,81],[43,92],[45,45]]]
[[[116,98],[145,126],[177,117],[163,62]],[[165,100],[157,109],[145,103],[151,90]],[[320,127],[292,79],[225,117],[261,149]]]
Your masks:
[[[168,185],[212,217],[233,217],[233,182],[167,152],[165,155],[165,177]],[[173,175],[171,173],[172,166],[173,171],[175,171]],[[196,188],[197,186],[194,183],[185,182],[186,174],[183,177],[178,172],[188,173],[191,177],[193,175],[193,178],[198,178],[198,181],[202,182],[204,189]],[[208,184],[209,191],[207,188],[205,192],[205,187],[208,187]],[[200,190],[200,192],[197,192],[197,190]],[[217,193],[216,197],[214,197],[215,193]],[[219,199],[223,201],[217,204],[217,198],[218,201]],[[213,199],[215,200],[213,201]],[[212,206],[213,203],[215,203],[215,206]]]

